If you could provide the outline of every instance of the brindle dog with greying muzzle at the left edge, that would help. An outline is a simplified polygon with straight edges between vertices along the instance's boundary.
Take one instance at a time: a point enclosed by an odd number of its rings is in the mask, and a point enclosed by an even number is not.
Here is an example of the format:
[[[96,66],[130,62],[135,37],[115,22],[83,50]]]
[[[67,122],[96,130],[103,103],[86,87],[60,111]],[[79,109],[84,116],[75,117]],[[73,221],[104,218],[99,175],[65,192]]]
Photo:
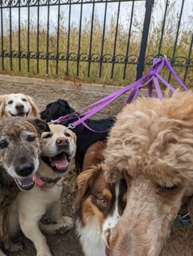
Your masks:
[[[49,130],[41,119],[0,120],[0,242],[2,250],[18,250],[10,239],[11,204],[20,190],[35,184],[39,166],[41,132]],[[3,255],[2,252],[0,252]]]

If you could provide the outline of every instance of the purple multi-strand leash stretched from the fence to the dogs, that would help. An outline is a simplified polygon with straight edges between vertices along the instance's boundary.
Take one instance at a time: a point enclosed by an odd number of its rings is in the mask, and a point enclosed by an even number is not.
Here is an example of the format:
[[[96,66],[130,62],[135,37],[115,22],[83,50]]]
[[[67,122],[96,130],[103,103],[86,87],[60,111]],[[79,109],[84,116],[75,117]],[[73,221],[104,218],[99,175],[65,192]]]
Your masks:
[[[127,99],[126,103],[131,103],[131,101],[134,99],[137,99],[137,96],[140,93],[141,87],[145,87],[146,85],[149,86],[149,97],[152,97],[152,85],[155,85],[157,97],[162,100],[164,98],[159,85],[159,80],[164,83],[166,87],[170,89],[170,91],[174,92],[176,89],[172,87],[171,84],[169,84],[162,76],[160,76],[160,71],[162,68],[166,66],[170,72],[172,72],[172,75],[175,77],[177,82],[183,87],[184,90],[188,91],[187,86],[183,83],[182,80],[180,80],[179,76],[175,72],[175,70],[172,68],[172,65],[169,63],[168,59],[164,56],[163,58],[154,58],[152,60],[152,68],[149,69],[149,72],[145,74],[145,76],[142,76],[141,79],[137,80],[134,83],[130,83],[129,85],[119,89],[118,91],[114,91],[112,94],[107,95],[106,97],[99,99],[95,103],[91,103],[91,105],[82,108],[79,112],[83,112],[87,109],[90,109],[89,111],[84,112],[83,114],[79,114],[79,119],[75,122],[71,122],[71,124],[68,126],[69,128],[75,128],[75,126],[78,126],[79,124],[83,124],[83,126],[87,127],[87,129],[94,131],[94,132],[105,132],[105,131],[96,131],[92,130],[91,127],[87,126],[87,124],[84,122],[88,118],[90,118],[92,115],[97,113],[98,111],[102,110],[103,107],[106,107],[108,104],[113,102],[115,99],[118,99],[121,95],[123,95],[125,92],[131,90],[129,98]],[[70,119],[77,118],[78,111],[75,111],[74,113],[64,115],[64,117],[61,117],[57,120],[52,121],[53,123],[64,123],[69,121]]]

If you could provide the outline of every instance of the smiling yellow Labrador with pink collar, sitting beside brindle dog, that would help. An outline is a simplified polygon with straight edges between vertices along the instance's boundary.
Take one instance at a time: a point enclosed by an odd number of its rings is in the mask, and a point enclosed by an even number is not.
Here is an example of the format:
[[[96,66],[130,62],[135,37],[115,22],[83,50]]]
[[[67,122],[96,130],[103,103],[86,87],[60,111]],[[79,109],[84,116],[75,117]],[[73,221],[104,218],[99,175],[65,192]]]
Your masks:
[[[37,255],[52,255],[45,236],[64,233],[73,227],[73,220],[62,215],[60,196],[63,178],[74,160],[76,136],[62,125],[49,125],[50,132],[41,136],[41,161],[37,170],[37,185],[29,192],[20,192],[13,205],[12,232],[15,232],[18,211],[19,223],[24,235],[30,239]],[[15,211],[16,210],[16,211]],[[40,222],[42,215],[49,213],[55,224]]]

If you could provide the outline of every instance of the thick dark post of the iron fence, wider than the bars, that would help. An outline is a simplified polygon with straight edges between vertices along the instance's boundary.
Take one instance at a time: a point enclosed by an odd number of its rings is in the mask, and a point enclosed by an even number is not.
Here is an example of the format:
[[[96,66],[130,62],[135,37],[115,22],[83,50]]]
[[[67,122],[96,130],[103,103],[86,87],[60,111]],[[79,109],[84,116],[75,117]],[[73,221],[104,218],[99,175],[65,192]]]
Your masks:
[[[154,0],[146,0],[145,2],[145,19],[144,19],[144,27],[143,27],[143,34],[141,38],[141,48],[140,48],[140,55],[139,55],[139,62],[137,64],[137,77],[136,80],[139,80],[143,75],[144,71],[144,63],[145,63],[145,52],[147,47],[148,35],[149,35],[149,24],[152,15],[152,6]]]

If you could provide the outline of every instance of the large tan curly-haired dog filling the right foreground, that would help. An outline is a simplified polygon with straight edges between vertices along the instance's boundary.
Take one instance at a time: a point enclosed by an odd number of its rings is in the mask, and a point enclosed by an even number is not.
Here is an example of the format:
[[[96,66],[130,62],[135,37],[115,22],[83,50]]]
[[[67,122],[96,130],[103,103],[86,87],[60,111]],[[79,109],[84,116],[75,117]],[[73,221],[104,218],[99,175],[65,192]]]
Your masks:
[[[193,92],[137,99],[117,118],[105,175],[112,183],[124,176],[128,192],[122,219],[106,234],[110,255],[193,255],[193,224],[172,227],[178,214],[193,214]]]

